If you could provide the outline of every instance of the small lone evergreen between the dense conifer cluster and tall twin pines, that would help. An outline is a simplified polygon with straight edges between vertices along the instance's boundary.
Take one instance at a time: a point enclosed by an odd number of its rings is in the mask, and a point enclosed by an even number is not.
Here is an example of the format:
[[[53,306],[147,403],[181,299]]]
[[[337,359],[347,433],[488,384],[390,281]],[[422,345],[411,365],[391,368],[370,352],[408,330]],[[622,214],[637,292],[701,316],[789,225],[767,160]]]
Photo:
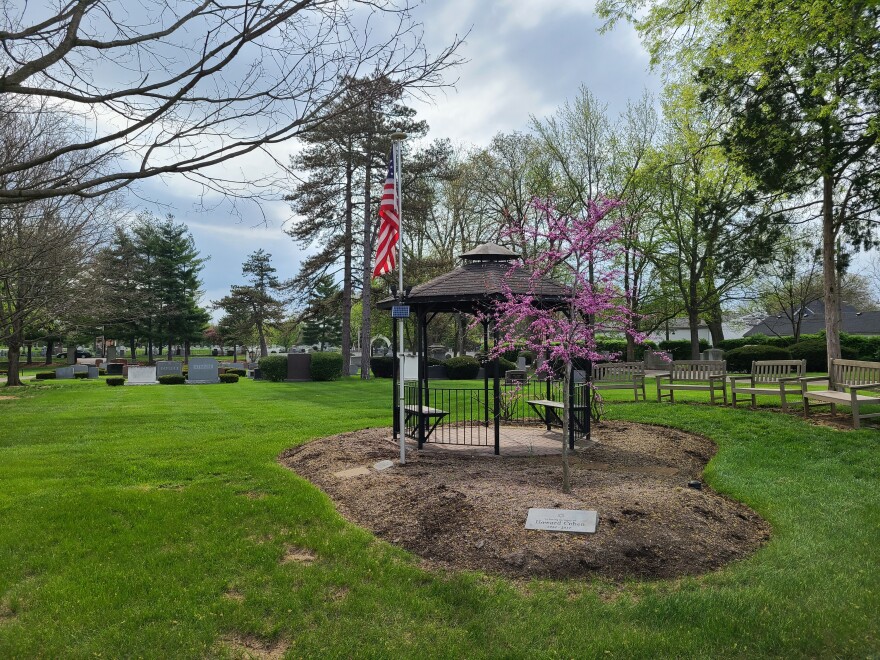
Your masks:
[[[285,300],[279,296],[282,285],[275,275],[272,255],[262,249],[248,257],[241,272],[248,283],[233,285],[229,295],[215,302],[214,307],[227,316],[235,315],[237,325],[249,326],[259,341],[260,357],[266,357],[266,334],[284,320]]]

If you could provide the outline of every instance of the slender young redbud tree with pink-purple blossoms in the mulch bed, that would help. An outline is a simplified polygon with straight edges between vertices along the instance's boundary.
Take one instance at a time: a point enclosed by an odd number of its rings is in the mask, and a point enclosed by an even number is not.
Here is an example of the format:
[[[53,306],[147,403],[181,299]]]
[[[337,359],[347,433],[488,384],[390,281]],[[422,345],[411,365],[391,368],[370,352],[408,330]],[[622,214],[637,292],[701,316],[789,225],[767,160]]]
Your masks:
[[[524,347],[545,360],[538,375],[552,375],[553,364],[565,366],[564,414],[562,433],[563,491],[570,492],[568,469],[568,430],[572,423],[569,391],[572,365],[576,361],[600,362],[608,354],[596,349],[596,337],[627,334],[637,342],[644,336],[633,330],[632,311],[626,304],[627,292],[619,286],[620,263],[624,247],[621,238],[627,219],[614,211],[622,207],[616,200],[591,202],[578,214],[561,213],[552,202],[533,200],[542,222],[507,230],[518,239],[532,239],[541,246],[522,265],[530,273],[526,293],[514,293],[508,285],[503,298],[485,315],[498,328],[499,342],[492,357],[514,347]],[[590,265],[592,264],[592,269]],[[590,273],[593,276],[590,276]],[[553,279],[568,287],[564,300],[547,306],[540,291],[542,281]]]

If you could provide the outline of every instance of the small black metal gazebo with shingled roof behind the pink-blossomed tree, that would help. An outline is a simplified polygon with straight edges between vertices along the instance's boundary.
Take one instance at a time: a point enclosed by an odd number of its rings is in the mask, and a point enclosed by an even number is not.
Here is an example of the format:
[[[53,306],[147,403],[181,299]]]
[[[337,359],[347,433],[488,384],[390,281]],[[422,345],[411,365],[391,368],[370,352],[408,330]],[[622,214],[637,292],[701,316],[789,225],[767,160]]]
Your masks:
[[[502,385],[497,359],[483,363],[482,387],[443,388],[429,384],[428,326],[438,315],[461,312],[476,315],[488,312],[496,301],[504,297],[504,285],[514,294],[534,295],[539,304],[547,309],[565,309],[569,289],[549,278],[532,282],[532,273],[522,264],[515,263],[520,255],[496,245],[485,243],[461,255],[462,265],[429,282],[403,292],[392,289],[394,294],[378,303],[380,309],[394,305],[408,305],[410,318],[416,326],[417,378],[406,381],[401,378],[397,359],[397,325],[394,324],[392,339],[394,358],[394,433],[399,427],[399,387],[405,393],[405,426],[403,432],[418,441],[421,449],[425,442],[489,446],[490,429],[495,454],[501,453],[501,424],[545,424],[550,429],[551,411],[541,416],[537,408],[530,413],[525,405],[527,399],[562,399],[562,386],[558,381],[528,380],[523,383]],[[489,335],[497,346],[498,328],[490,320],[484,320],[483,350],[489,351]],[[491,397],[489,380],[492,380]],[[403,383],[401,383],[403,381]],[[491,406],[490,406],[491,398]],[[588,393],[581,384],[572,384],[569,401],[572,406],[569,446],[573,449],[576,439],[589,438]],[[555,415],[553,417],[556,417]]]

